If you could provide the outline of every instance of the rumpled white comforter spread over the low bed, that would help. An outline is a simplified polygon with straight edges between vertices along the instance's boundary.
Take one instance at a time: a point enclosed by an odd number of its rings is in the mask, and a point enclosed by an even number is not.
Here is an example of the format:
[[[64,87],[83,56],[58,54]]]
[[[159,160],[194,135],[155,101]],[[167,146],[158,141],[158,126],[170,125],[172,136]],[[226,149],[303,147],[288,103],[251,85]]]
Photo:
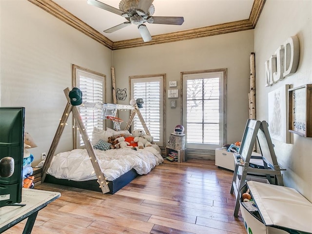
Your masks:
[[[110,181],[133,168],[139,175],[148,174],[164,160],[153,147],[137,151],[127,148],[106,151],[96,149],[95,152],[106,180]],[[47,174],[75,181],[97,179],[86,149],[75,149],[54,156]]]

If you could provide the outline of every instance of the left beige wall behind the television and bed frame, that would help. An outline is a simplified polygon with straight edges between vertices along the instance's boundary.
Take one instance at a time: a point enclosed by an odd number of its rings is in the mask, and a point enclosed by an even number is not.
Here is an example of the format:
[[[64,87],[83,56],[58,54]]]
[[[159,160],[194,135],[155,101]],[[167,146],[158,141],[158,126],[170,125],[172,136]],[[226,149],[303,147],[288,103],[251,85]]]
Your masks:
[[[35,166],[40,153],[48,153],[63,114],[71,65],[105,74],[110,87],[112,52],[26,0],[1,0],[0,21],[0,106],[25,107],[25,131],[38,145],[29,150]],[[73,148],[72,117],[68,124],[57,153]]]

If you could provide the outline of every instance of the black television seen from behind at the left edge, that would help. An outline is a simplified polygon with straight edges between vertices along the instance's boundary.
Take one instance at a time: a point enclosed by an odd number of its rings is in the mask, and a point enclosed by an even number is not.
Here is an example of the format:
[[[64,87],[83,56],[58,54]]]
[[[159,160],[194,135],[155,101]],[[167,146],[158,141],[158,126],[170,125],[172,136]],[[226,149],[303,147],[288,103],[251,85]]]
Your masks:
[[[24,107],[0,107],[0,207],[21,202]]]

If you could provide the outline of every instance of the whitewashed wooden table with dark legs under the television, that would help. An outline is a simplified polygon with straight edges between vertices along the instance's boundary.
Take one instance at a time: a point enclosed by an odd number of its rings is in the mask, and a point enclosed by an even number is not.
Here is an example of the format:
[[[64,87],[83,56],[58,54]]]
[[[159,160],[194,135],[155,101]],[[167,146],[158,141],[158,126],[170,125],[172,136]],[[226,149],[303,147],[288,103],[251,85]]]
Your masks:
[[[4,206],[0,208],[0,233],[28,218],[23,234],[30,234],[39,210],[59,197],[60,193],[57,192],[23,188],[20,204],[24,204],[24,206]]]

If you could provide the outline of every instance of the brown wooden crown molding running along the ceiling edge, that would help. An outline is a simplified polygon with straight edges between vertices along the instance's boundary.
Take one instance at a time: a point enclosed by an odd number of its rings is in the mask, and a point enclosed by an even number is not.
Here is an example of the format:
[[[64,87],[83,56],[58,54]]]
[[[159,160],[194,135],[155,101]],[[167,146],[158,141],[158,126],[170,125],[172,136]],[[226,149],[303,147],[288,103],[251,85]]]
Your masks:
[[[62,20],[65,23],[76,28],[78,31],[84,33],[88,37],[97,40],[99,43],[106,46],[107,48],[111,50],[119,50],[139,46],[168,43],[179,40],[203,38],[225,33],[233,33],[254,29],[266,0],[254,0],[254,4],[249,19],[216,24],[212,26],[195,28],[175,33],[156,35],[153,36],[152,40],[149,42],[143,42],[141,38],[113,42],[112,40],[100,34],[90,25],[86,24],[82,20],[79,20],[73,14],[63,9],[61,6],[59,6],[59,4],[55,3],[52,0],[28,0],[28,1],[39,6],[46,12],[50,13],[51,15],[57,17],[59,20]]]

